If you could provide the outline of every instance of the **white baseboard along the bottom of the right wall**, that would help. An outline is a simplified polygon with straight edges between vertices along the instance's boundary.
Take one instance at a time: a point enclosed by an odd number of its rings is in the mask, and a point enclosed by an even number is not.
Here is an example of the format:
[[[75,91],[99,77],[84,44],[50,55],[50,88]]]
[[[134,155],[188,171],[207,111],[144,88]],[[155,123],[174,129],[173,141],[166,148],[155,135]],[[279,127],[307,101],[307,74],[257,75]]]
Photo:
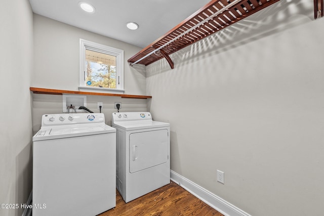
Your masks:
[[[177,183],[185,190],[187,190],[189,193],[191,193],[201,201],[204,201],[206,204],[216,209],[220,213],[226,216],[251,216],[247,212],[242,211],[241,209],[237,208],[231,203],[209,192],[205,188],[200,187],[199,185],[177,174],[177,172],[171,170],[170,174],[171,174],[171,180],[173,182]]]

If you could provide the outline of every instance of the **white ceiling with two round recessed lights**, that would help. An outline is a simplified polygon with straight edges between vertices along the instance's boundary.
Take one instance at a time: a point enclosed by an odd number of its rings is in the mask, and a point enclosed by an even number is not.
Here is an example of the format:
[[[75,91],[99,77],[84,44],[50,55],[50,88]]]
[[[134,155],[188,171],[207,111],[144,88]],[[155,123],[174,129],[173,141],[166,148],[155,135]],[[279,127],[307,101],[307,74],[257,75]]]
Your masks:
[[[79,8],[90,3],[96,13]],[[34,13],[144,48],[210,0],[29,0]],[[126,23],[136,22],[137,30]]]

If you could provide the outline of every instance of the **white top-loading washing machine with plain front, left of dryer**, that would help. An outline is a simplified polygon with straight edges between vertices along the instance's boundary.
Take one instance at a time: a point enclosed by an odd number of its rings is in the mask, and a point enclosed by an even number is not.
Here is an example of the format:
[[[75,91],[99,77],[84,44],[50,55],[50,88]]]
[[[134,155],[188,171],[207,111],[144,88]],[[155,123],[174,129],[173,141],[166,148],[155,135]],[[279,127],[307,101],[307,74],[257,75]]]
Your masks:
[[[116,129],[102,113],[43,115],[32,140],[33,216],[93,216],[115,207]]]

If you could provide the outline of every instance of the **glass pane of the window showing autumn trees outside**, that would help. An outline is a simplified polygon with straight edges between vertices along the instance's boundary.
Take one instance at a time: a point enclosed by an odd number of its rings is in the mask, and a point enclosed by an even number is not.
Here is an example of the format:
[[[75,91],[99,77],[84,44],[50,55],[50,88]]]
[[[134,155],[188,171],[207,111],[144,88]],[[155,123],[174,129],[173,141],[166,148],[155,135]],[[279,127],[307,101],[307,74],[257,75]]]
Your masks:
[[[86,50],[86,85],[116,89],[116,56]]]

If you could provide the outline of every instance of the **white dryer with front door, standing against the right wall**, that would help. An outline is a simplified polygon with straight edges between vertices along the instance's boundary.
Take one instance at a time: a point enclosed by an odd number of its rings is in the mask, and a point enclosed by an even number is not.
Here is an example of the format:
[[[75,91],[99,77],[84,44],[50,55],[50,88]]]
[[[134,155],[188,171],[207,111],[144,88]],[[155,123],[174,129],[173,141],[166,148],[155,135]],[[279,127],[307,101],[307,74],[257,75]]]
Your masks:
[[[149,112],[112,113],[116,131],[116,188],[129,202],[170,184],[170,124]]]

